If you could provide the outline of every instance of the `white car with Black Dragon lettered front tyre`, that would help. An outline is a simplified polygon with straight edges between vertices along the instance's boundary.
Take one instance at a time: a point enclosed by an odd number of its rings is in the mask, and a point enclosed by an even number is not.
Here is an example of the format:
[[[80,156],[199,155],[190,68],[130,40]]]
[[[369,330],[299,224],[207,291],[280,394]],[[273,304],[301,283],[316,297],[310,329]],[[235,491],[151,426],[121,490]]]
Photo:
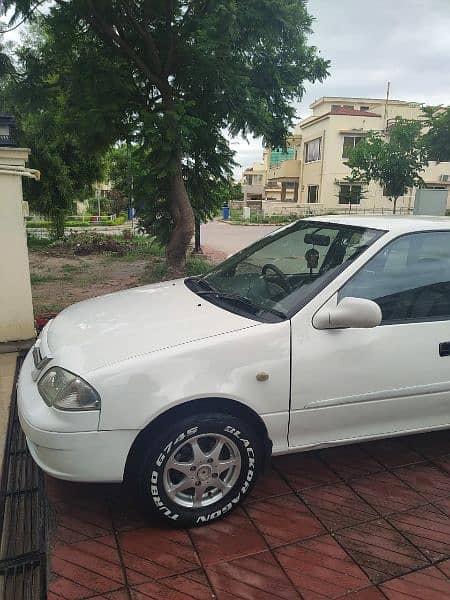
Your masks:
[[[130,481],[180,525],[228,513],[273,454],[450,426],[450,220],[322,217],[204,277],[75,304],[18,384],[35,461]]]

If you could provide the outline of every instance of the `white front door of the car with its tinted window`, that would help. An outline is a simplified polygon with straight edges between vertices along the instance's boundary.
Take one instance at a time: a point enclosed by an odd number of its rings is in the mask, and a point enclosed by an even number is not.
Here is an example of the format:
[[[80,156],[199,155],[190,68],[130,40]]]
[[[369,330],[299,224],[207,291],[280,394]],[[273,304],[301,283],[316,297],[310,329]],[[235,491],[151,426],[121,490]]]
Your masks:
[[[383,320],[317,330],[311,309],[292,318],[289,445],[450,426],[450,232],[394,239],[330,293],[329,306],[374,300]]]

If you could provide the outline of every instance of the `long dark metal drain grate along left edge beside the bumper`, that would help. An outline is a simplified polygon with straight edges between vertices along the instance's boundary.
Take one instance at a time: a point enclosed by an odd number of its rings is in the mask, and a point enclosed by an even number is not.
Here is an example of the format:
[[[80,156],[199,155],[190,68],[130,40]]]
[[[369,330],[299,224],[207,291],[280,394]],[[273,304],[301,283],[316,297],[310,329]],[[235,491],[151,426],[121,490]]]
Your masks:
[[[16,380],[23,358],[16,367]],[[47,502],[44,477],[28,451],[14,386],[0,483],[0,594],[4,600],[47,597]]]

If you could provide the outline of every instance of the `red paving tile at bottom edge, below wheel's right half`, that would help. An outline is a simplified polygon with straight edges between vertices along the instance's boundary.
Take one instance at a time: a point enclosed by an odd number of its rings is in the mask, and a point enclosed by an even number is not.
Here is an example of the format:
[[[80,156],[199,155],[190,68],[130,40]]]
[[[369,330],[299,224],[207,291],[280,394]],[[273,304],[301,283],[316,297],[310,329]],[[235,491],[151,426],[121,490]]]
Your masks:
[[[300,600],[269,552],[207,567],[218,600]]]

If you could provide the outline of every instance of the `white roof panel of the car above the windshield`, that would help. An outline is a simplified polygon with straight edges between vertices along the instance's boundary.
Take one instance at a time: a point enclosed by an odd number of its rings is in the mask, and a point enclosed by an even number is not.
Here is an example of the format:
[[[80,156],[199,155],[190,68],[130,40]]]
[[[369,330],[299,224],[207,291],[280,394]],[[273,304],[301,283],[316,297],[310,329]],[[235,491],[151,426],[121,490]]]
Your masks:
[[[355,227],[366,227],[398,233],[450,230],[450,217],[432,217],[426,215],[323,215],[320,217],[311,216],[307,220],[354,225]]]

